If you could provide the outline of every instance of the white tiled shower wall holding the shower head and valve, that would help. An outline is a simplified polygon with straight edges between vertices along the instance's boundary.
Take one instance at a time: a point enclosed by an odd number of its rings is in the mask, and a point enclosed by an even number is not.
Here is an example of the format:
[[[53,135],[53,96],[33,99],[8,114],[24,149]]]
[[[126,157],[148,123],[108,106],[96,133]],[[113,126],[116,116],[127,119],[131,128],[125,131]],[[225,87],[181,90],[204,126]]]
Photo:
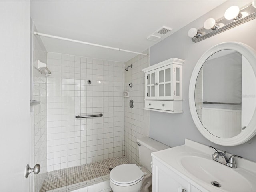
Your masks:
[[[149,50],[143,53],[149,53]],[[144,110],[145,106],[145,76],[142,69],[150,66],[149,56],[138,55],[125,63],[125,67],[132,64],[125,72],[125,90],[130,92],[130,97],[124,99],[124,136],[125,156],[132,163],[139,165],[139,153],[137,138],[149,136],[149,111]],[[129,87],[132,83],[133,87]],[[134,107],[129,106],[130,100],[134,101]]]

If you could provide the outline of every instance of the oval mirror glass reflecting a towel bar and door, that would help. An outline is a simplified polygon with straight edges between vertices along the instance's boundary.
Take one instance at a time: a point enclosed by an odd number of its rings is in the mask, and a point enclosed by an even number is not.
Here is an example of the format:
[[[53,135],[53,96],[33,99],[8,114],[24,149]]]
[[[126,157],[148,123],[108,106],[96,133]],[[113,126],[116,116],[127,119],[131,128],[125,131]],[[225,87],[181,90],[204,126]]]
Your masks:
[[[242,132],[254,113],[255,84],[252,67],[239,52],[221,50],[210,56],[195,87],[196,111],[204,128],[219,138]]]

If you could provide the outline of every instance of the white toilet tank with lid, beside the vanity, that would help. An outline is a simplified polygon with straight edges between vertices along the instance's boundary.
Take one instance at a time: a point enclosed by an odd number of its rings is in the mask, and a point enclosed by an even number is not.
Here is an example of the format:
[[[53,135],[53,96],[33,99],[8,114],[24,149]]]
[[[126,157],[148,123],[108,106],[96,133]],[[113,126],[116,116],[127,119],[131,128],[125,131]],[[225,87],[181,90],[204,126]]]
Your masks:
[[[170,148],[169,146],[162,144],[152,138],[143,137],[138,138],[137,142],[139,146],[139,159],[140,164],[144,166],[150,173],[152,173],[151,161],[152,161],[152,152],[164,150]]]

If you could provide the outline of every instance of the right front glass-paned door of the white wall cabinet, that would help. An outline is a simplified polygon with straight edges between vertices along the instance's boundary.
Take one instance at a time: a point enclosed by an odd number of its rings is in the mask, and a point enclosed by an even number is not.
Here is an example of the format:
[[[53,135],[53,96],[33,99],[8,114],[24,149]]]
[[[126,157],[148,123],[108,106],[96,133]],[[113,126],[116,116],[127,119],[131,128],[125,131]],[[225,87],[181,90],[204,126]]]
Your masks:
[[[172,99],[174,96],[172,66],[162,67],[158,70],[158,98]]]

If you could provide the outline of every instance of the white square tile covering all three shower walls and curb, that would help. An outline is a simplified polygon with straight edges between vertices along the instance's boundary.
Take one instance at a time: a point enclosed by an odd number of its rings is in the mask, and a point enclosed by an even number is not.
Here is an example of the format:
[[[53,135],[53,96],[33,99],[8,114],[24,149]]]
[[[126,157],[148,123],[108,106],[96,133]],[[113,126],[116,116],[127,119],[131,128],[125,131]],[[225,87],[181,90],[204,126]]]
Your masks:
[[[143,110],[144,73],[141,71],[149,66],[149,57],[139,55],[122,63],[46,52],[40,38],[34,39],[33,50],[34,62],[37,59],[46,62],[52,72],[45,77],[34,70],[33,75],[34,99],[42,100],[34,107],[37,155],[34,162],[43,165],[42,172],[36,175],[36,192],[42,190],[43,185],[44,191],[47,191],[46,186],[50,189],[50,175],[64,170],[77,170],[80,166],[104,160],[100,163],[103,165],[110,158],[114,160],[124,155],[121,162],[128,160],[138,164],[136,138],[149,136],[149,113]],[[125,71],[130,64],[133,68]],[[124,91],[130,92],[129,98],[124,98]],[[134,100],[132,109],[130,99]],[[103,117],[75,118],[76,115],[100,113]],[[119,164],[118,161],[111,163]],[[45,178],[47,182],[43,184]],[[83,181],[78,186],[75,182],[70,188],[90,185],[97,188],[101,181],[104,186],[107,183],[109,189],[108,176],[100,176],[95,182]],[[71,191],[65,186],[62,190]]]

